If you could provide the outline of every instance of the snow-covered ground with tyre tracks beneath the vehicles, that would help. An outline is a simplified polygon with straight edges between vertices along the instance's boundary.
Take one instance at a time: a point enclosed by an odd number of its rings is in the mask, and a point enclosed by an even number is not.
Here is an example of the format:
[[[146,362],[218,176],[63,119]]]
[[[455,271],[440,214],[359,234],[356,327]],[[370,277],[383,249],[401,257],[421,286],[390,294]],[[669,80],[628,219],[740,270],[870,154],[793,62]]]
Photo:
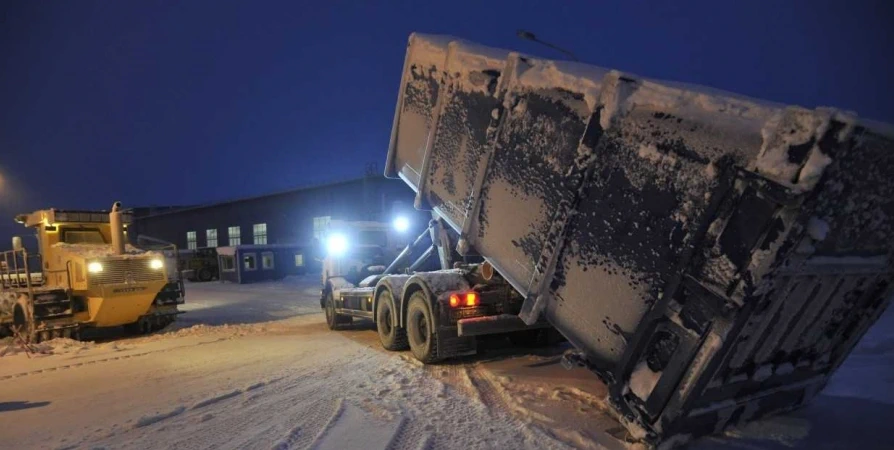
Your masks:
[[[604,386],[562,369],[561,348],[493,341],[422,366],[371,326],[329,331],[317,277],[187,289],[160,333],[0,357],[0,448],[630,447]],[[892,369],[889,311],[808,408],[693,447],[889,448]]]

